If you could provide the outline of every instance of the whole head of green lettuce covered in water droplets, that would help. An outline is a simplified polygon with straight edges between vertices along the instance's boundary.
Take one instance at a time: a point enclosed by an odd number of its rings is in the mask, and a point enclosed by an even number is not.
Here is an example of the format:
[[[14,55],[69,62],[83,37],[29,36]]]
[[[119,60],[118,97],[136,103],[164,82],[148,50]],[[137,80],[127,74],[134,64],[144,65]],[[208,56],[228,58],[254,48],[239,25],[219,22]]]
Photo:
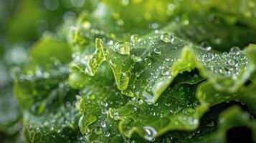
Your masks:
[[[255,1],[96,5],[14,70],[27,142],[256,142]]]

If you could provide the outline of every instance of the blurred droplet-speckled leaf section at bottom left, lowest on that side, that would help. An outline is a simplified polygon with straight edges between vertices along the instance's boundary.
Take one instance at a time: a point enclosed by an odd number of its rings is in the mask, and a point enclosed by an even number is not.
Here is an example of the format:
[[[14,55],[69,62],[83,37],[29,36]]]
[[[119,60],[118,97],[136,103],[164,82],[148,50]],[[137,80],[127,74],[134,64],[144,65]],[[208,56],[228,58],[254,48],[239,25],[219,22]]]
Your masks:
[[[41,117],[24,113],[24,135],[27,142],[83,142],[77,126],[74,107],[62,107]]]

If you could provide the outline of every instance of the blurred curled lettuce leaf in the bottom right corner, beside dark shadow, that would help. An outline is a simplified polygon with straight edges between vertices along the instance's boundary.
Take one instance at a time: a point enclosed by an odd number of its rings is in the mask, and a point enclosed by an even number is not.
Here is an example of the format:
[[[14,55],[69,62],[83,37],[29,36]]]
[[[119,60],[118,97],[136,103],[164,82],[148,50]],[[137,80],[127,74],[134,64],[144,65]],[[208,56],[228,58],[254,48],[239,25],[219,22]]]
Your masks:
[[[225,105],[226,106],[226,105]],[[250,119],[248,112],[240,107],[232,106],[222,110],[222,105],[217,105],[202,118],[200,126],[193,132],[175,131],[163,136],[169,142],[234,142],[234,139],[243,139],[246,142],[255,140],[255,119]],[[250,129],[252,132],[238,130],[236,137],[229,133],[232,129]],[[242,133],[242,134],[239,134]],[[233,134],[232,134],[233,135]],[[244,138],[246,137],[248,138]],[[230,139],[233,138],[232,140]],[[252,138],[249,138],[252,137]]]

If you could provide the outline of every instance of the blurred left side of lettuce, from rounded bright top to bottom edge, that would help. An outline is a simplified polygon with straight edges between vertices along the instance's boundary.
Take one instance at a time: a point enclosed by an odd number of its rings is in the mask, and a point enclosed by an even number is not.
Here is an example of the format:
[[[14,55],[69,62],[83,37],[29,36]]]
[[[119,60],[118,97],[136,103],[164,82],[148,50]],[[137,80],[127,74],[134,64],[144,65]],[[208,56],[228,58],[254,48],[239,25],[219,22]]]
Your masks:
[[[75,94],[67,82],[71,49],[50,36],[32,47],[29,63],[16,69],[14,92],[24,113],[27,142],[82,142]]]

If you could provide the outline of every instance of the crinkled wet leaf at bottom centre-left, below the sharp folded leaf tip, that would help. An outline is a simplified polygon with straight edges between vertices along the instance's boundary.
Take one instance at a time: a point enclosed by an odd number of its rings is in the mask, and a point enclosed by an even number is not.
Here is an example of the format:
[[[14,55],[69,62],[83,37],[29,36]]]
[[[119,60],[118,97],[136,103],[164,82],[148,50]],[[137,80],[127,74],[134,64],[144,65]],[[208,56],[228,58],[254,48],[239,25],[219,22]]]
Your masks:
[[[115,88],[109,66],[103,67],[107,68],[90,77],[70,64],[70,84],[80,89],[80,131],[85,142],[123,142],[125,137],[118,131],[118,122],[108,116],[108,108],[121,107],[128,99]]]

